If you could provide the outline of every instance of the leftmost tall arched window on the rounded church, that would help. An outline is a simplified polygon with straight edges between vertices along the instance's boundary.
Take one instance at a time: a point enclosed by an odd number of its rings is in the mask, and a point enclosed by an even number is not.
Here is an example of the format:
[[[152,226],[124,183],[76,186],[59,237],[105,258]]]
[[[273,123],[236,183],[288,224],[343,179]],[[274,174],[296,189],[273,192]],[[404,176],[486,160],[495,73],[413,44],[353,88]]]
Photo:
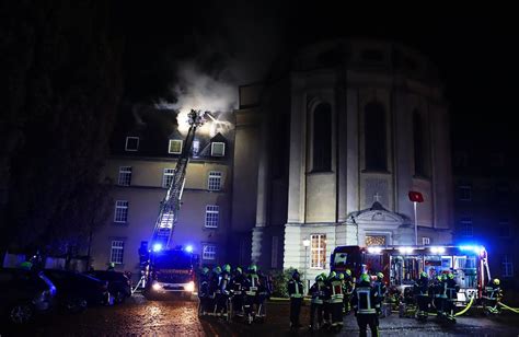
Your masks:
[[[319,104],[313,111],[313,172],[332,170],[332,106]]]

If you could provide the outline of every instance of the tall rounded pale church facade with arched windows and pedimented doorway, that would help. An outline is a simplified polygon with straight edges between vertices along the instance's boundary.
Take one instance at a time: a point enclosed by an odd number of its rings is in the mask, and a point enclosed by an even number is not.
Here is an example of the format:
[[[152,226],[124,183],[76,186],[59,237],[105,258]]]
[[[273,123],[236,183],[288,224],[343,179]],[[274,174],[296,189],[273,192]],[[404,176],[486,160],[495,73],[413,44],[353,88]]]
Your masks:
[[[448,108],[423,55],[333,40],[275,78],[255,100],[242,88],[237,112],[262,117],[252,260],[314,277],[338,245],[414,245],[410,190],[418,244],[451,243]]]

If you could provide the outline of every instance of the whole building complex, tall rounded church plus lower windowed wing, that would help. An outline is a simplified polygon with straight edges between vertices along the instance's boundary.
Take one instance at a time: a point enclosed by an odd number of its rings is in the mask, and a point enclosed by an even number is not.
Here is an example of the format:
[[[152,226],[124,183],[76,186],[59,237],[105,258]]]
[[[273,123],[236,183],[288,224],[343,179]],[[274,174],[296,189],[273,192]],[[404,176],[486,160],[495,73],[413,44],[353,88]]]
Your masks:
[[[188,166],[178,242],[194,244],[205,264],[252,260],[314,276],[338,245],[415,244],[410,190],[425,198],[418,244],[451,242],[449,115],[426,57],[395,43],[341,39],[274,68],[267,80],[239,89],[232,127],[200,142],[206,152]],[[114,221],[96,235],[97,267],[117,262],[122,245],[124,268],[126,260],[135,266],[174,166],[171,141],[151,155],[128,151],[145,136],[126,137],[106,172],[119,185],[130,172],[131,183],[117,187]],[[223,156],[209,151],[216,142],[226,143]],[[218,191],[214,172],[221,174]],[[212,206],[217,229],[208,226]]]

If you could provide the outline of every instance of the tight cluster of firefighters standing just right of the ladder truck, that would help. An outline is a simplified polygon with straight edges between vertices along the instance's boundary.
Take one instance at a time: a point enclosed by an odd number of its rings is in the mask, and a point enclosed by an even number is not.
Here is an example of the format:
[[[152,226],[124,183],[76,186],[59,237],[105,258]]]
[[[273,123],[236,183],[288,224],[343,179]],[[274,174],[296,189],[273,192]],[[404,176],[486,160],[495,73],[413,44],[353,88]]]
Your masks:
[[[204,267],[198,277],[200,315],[230,318],[232,307],[237,316],[245,315],[247,319],[263,317],[264,303],[270,293],[270,278],[258,270],[256,265],[251,265],[245,271],[241,267],[231,270],[230,265],[217,266],[212,270]]]

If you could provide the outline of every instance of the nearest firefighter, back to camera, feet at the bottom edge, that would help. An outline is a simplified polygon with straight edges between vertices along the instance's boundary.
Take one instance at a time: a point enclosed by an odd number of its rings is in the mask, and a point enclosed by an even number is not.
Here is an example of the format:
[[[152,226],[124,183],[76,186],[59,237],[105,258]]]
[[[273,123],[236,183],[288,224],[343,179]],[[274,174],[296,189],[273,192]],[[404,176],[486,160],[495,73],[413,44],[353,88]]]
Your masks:
[[[351,306],[359,325],[359,336],[367,335],[368,325],[371,336],[379,336],[379,316],[374,303],[377,303],[377,291],[369,283],[369,275],[362,274],[351,295]]]

